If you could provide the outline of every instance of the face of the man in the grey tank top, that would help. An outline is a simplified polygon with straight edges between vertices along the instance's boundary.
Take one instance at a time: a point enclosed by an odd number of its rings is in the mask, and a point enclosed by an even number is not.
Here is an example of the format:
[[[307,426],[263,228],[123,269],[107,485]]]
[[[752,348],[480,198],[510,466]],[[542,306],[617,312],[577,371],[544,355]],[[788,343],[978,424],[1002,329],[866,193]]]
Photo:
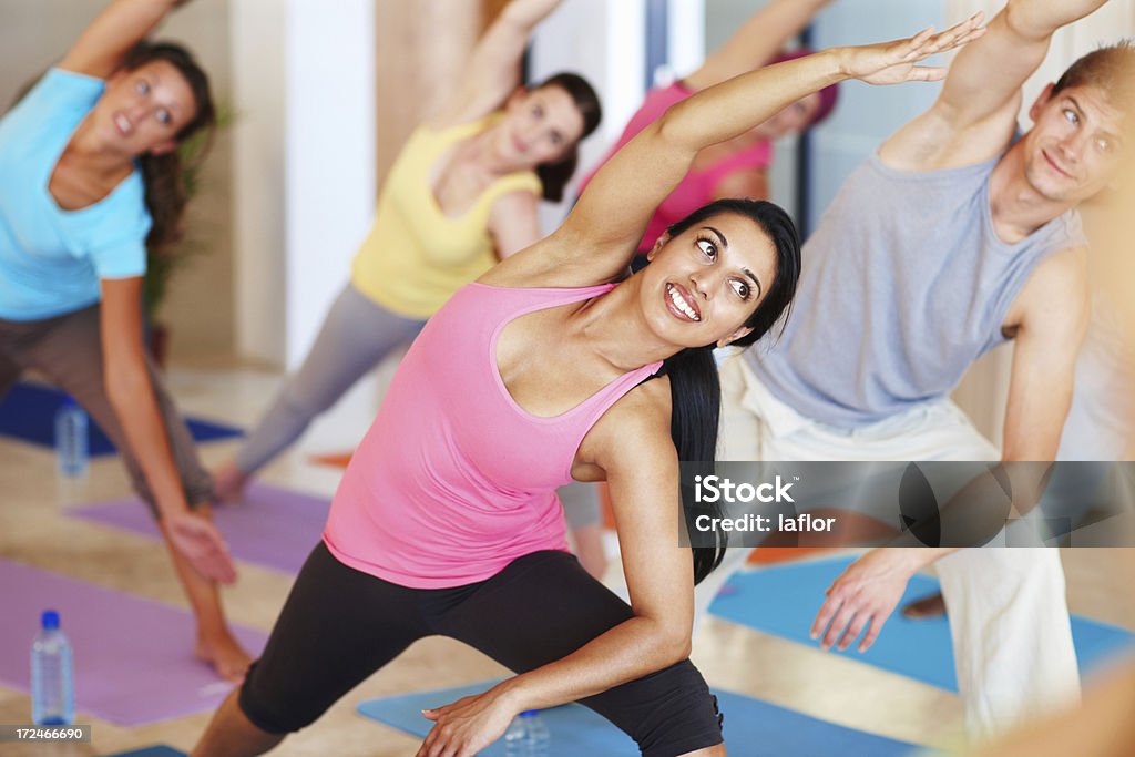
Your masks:
[[[1102,90],[1051,85],[1029,111],[1035,126],[1024,137],[1025,177],[1040,195],[1077,203],[1116,177],[1124,144],[1123,116]]]

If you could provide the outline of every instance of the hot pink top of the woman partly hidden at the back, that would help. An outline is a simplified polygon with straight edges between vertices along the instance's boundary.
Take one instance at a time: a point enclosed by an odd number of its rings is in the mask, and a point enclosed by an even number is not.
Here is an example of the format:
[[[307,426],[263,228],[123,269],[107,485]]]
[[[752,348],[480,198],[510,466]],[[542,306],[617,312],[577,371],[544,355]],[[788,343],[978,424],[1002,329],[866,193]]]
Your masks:
[[[579,192],[583,192],[596,173],[603,167],[604,163],[611,160],[611,158],[619,152],[624,144],[633,140],[639,132],[661,118],[662,115],[666,112],[667,108],[681,102],[692,94],[693,91],[687,89],[681,82],[674,82],[666,87],[655,87],[654,90],[647,92],[646,100],[642,101],[642,106],[631,117],[630,121],[628,121],[627,128],[623,129],[622,135],[619,137],[619,142],[616,142],[615,146],[611,149],[611,152],[608,152],[603,160],[599,161],[599,165],[596,166],[582,182],[580,182]],[[707,205],[713,202],[716,197],[717,185],[720,185],[726,176],[739,170],[767,168],[772,162],[772,144],[767,141],[758,142],[748,150],[735,152],[729,158],[718,160],[716,163],[704,170],[689,171],[686,175],[686,178],[682,179],[682,183],[679,184],[670,196],[662,201],[658,209],[655,210],[654,218],[650,219],[650,224],[646,227],[646,233],[642,235],[642,242],[639,243],[639,250],[642,252],[648,251],[654,246],[655,239],[662,236],[663,233],[670,228],[670,226],[682,220],[701,205]]]

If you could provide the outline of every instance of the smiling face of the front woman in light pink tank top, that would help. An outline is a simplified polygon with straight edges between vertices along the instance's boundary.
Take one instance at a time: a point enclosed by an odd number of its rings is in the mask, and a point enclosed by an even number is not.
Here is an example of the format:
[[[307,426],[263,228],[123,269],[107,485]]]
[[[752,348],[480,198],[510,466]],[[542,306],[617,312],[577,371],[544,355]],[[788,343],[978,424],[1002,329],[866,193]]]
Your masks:
[[[682,347],[720,345],[748,334],[746,321],[768,293],[776,249],[739,213],[712,216],[674,238],[663,236],[639,276],[651,329]]]

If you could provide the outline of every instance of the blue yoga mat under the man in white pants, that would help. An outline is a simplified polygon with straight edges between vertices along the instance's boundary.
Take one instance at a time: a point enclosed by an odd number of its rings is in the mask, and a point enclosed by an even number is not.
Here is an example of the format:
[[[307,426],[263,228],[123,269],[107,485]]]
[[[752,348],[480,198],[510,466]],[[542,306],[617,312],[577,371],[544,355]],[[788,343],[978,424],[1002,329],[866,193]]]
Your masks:
[[[824,590],[851,564],[851,557],[777,565],[735,574],[709,612],[734,623],[809,646],[808,638],[816,613],[824,602]],[[935,579],[915,575],[899,603],[939,590]],[[1082,673],[1091,673],[1116,654],[1135,648],[1135,634],[1115,625],[1073,616],[1073,641]],[[940,689],[958,690],[953,670],[950,624],[944,617],[907,620],[891,615],[883,632],[866,653],[852,645],[847,651],[833,651],[871,665],[913,678]]]

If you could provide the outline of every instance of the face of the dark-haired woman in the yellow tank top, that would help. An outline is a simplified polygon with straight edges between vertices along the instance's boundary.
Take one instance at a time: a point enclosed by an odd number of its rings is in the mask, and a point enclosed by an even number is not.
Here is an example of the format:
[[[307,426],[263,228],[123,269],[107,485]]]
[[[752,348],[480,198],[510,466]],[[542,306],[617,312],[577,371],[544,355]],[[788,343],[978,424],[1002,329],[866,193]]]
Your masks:
[[[572,96],[548,85],[514,94],[505,106],[495,148],[519,166],[558,162],[583,135],[583,116]]]

